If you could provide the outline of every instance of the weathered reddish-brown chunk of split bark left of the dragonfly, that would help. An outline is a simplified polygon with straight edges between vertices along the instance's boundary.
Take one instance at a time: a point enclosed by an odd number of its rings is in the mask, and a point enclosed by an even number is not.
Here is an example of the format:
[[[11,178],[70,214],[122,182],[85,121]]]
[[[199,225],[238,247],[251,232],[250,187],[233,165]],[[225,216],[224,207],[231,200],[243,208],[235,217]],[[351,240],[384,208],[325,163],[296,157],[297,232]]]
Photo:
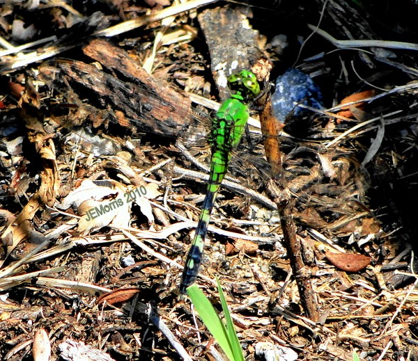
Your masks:
[[[78,107],[73,125],[90,118],[94,127],[114,122],[132,134],[176,137],[191,122],[190,99],[146,74],[123,49],[93,40],[84,51],[118,77],[80,61],[59,59],[40,66],[39,78]]]

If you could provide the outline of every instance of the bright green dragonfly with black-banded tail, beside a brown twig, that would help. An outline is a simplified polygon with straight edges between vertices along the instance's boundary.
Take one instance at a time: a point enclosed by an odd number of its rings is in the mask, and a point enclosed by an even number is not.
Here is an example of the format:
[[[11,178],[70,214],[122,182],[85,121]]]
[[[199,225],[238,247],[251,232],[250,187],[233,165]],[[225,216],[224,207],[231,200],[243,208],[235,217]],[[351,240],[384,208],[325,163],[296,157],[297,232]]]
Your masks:
[[[228,170],[232,151],[238,147],[244,134],[249,118],[248,104],[261,93],[255,74],[248,70],[232,74],[228,78],[228,86],[233,93],[212,118],[212,133],[209,139],[212,145],[209,182],[196,234],[183,269],[180,294],[186,294],[187,287],[194,283],[199,273],[205,236],[217,192]]]

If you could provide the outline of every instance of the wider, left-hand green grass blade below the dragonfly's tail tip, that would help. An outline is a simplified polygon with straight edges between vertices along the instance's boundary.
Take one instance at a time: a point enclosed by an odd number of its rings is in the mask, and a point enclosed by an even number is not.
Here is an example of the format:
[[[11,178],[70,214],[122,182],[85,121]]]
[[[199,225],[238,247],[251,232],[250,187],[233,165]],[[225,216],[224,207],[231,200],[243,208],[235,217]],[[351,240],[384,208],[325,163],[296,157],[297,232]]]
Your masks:
[[[233,348],[229,342],[229,332],[226,330],[224,323],[222,323],[215,308],[212,306],[212,303],[210,303],[208,298],[206,298],[205,294],[203,294],[196,284],[187,288],[187,294],[189,295],[190,300],[192,300],[194,308],[196,308],[203,323],[205,323],[209,332],[217,340],[217,343],[221,346],[222,350],[224,350],[226,356],[229,360],[235,361]]]

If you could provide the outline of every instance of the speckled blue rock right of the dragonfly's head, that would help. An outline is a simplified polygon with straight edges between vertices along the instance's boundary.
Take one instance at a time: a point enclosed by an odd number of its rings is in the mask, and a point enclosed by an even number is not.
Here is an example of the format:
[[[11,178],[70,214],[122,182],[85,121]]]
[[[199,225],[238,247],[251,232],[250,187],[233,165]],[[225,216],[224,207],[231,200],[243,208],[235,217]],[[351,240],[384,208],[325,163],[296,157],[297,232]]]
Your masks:
[[[293,67],[277,77],[275,89],[272,95],[272,108],[274,116],[281,122],[286,122],[290,117],[298,118],[309,112],[295,103],[323,109],[322,95],[318,86],[309,75]]]

